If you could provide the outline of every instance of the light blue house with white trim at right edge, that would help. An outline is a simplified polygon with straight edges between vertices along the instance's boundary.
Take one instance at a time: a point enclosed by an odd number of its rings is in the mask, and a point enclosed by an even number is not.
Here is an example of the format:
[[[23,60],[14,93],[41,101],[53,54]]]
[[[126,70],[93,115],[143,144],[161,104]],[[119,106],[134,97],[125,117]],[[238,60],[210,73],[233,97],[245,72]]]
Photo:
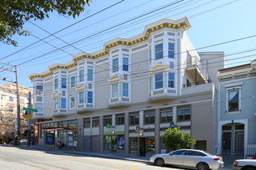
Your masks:
[[[256,59],[219,70],[220,122],[218,153],[244,155],[256,146]]]

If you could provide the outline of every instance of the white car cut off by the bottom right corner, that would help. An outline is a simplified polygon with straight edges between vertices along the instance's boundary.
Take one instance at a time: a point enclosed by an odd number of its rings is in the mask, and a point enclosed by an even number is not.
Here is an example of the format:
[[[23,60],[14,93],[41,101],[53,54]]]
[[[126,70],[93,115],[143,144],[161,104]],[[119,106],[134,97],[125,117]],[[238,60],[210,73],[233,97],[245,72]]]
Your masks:
[[[237,159],[234,161],[233,169],[256,170],[256,159]]]

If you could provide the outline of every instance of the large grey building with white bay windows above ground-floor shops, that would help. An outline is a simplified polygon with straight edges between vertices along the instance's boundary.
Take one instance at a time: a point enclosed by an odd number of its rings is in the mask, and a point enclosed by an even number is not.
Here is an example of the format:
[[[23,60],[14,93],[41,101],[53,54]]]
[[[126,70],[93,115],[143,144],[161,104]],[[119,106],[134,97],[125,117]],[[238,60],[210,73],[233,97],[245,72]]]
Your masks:
[[[216,73],[225,56],[197,53],[189,28],[186,17],[162,19],[30,74],[40,144],[43,127],[73,128],[78,149],[144,156],[164,149],[160,135],[172,124],[191,132],[195,148],[216,151]]]

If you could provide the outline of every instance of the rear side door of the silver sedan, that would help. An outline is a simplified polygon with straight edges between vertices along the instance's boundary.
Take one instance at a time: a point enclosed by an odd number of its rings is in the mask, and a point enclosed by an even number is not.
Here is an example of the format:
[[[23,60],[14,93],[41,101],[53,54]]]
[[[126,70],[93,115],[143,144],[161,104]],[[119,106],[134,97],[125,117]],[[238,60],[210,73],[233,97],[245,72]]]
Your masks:
[[[184,156],[184,166],[195,167],[199,162],[199,151],[187,151],[187,154]]]

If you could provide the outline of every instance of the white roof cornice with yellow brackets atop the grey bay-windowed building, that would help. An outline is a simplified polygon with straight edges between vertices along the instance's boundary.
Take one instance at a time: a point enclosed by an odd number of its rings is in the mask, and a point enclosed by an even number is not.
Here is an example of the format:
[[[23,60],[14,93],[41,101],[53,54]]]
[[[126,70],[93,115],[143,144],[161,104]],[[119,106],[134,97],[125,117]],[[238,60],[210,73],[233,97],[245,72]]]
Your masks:
[[[106,56],[109,54],[109,49],[112,49],[116,46],[133,46],[137,43],[146,41],[152,32],[155,32],[159,29],[169,28],[169,29],[190,29],[192,26],[187,17],[182,19],[161,19],[157,22],[153,22],[145,26],[144,32],[140,35],[133,36],[132,38],[121,38],[112,39],[109,42],[104,43],[104,49],[101,49],[95,53],[80,53],[78,55],[72,56],[73,61],[69,63],[56,63],[49,66],[49,70],[44,73],[32,73],[29,74],[29,79],[33,80],[34,78],[43,78],[45,76],[50,76],[54,74],[54,70],[57,69],[69,69],[73,66],[78,65],[78,60],[80,59],[98,59],[99,57]]]

